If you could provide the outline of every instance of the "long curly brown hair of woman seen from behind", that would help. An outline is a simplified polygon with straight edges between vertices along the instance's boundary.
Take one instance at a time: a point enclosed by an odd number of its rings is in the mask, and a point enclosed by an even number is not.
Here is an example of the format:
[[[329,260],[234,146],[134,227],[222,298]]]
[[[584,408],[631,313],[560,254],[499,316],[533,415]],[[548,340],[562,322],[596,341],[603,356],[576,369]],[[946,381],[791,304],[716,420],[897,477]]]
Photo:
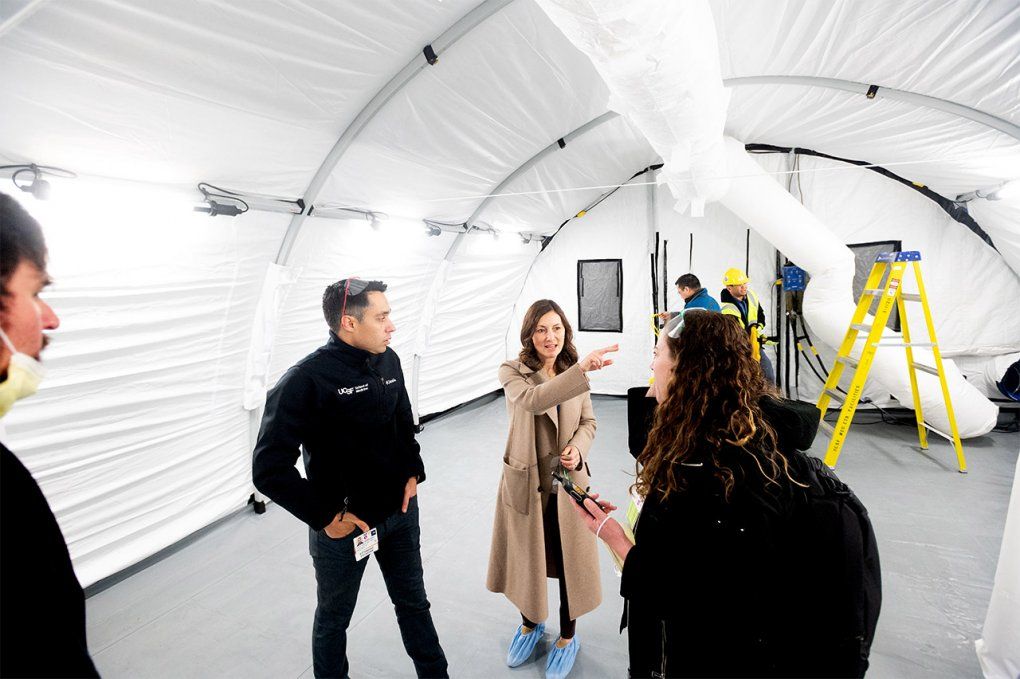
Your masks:
[[[778,391],[752,357],[747,332],[713,311],[684,312],[682,323],[676,337],[663,330],[673,359],[672,380],[638,457],[638,492],[666,499],[681,490],[684,462],[709,468],[727,501],[743,473],[738,470],[747,467],[757,468],[765,485],[778,487],[784,479],[802,485],[789,475],[788,461],[759,405],[762,397],[778,398]],[[754,464],[741,464],[747,458]]]

